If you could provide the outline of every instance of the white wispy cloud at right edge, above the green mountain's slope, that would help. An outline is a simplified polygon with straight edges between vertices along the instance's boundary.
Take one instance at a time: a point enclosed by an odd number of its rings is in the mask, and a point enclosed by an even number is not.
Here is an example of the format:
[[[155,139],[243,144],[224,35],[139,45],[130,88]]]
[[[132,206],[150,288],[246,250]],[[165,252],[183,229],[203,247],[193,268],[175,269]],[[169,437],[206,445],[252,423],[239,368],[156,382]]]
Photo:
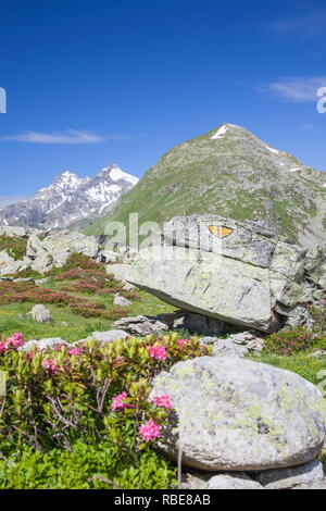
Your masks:
[[[277,82],[264,84],[258,90],[269,92],[287,101],[302,103],[317,101],[317,91],[321,87],[326,87],[326,76],[280,78]]]

